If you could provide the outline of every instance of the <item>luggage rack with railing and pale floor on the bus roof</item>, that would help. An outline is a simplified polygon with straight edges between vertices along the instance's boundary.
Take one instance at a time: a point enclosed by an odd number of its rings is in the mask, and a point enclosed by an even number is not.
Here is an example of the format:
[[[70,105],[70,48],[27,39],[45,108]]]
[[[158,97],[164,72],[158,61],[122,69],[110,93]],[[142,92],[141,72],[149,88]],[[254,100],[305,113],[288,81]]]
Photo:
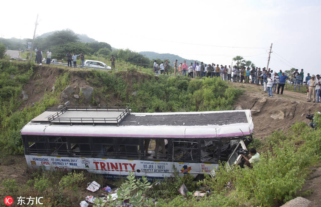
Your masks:
[[[31,121],[48,121],[52,123],[108,123],[117,124],[131,112],[128,106],[112,107],[69,107],[46,109],[46,117],[36,117]],[[47,118],[47,120],[45,120]]]

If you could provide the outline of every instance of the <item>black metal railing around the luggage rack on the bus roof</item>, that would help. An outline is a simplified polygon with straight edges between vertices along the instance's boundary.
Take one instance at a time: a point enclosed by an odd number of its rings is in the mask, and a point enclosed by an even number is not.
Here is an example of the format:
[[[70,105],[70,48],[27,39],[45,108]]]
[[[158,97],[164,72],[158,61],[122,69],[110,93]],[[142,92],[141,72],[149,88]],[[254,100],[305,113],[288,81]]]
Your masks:
[[[128,106],[107,106],[107,107],[71,107],[66,106],[64,108],[48,107],[46,111],[56,111],[53,115],[48,117],[48,122],[59,122],[59,123],[115,123],[119,126],[119,123],[131,112]],[[99,111],[99,112],[121,112],[116,117],[59,117],[67,111]]]

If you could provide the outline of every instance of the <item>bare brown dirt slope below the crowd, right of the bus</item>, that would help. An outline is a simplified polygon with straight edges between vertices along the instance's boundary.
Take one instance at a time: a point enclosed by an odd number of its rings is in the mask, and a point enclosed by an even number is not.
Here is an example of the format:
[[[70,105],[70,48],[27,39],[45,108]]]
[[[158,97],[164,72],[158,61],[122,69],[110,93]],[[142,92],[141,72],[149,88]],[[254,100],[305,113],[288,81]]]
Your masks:
[[[321,104],[307,102],[307,95],[284,90],[283,95],[267,97],[262,86],[231,83],[244,89],[243,95],[235,101],[234,108],[251,109],[254,123],[254,138],[264,138],[271,132],[290,128],[295,122],[306,122],[307,114],[321,111]],[[274,118],[272,118],[272,117]]]

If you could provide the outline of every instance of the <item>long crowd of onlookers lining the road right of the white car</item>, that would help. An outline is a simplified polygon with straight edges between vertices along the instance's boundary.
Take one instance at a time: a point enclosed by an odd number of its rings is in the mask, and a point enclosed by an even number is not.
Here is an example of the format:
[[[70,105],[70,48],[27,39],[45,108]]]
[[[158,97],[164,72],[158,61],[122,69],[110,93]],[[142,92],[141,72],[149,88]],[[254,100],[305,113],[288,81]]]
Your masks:
[[[154,61],[153,70],[157,74],[165,74],[169,70],[169,64],[166,61],[165,63],[161,62],[160,65],[157,61]],[[307,87],[307,100],[310,102],[311,100],[313,103],[317,102],[320,103],[320,88],[321,88],[321,79],[320,75],[312,75],[308,73],[304,80],[304,71],[301,69],[300,73],[298,69],[296,69],[291,76],[287,76],[280,70],[279,72],[273,72],[271,68],[266,69],[265,67],[237,67],[234,66],[231,68],[229,65],[228,67],[225,65],[215,65],[212,64],[201,64],[197,63],[196,61],[190,63],[188,66],[186,61],[184,63],[179,63],[177,60],[174,62],[174,76],[181,75],[181,76],[189,76],[191,78],[202,78],[202,77],[221,77],[222,80],[231,81],[231,82],[240,82],[240,83],[251,83],[256,85],[262,85],[263,91],[268,93],[268,97],[273,97],[273,92],[277,94],[283,94],[284,86],[289,80],[289,84],[294,85],[294,90],[300,90],[300,87],[305,84]],[[317,78],[315,80],[315,78]],[[281,90],[280,90],[281,89]]]

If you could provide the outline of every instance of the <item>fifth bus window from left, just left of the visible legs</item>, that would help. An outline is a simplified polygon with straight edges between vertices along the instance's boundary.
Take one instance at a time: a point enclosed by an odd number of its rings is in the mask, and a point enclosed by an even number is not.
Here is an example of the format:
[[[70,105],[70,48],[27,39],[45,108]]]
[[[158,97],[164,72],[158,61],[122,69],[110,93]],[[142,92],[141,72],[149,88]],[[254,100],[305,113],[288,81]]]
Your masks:
[[[138,158],[141,154],[140,139],[119,138],[117,139],[117,154],[120,158]]]

